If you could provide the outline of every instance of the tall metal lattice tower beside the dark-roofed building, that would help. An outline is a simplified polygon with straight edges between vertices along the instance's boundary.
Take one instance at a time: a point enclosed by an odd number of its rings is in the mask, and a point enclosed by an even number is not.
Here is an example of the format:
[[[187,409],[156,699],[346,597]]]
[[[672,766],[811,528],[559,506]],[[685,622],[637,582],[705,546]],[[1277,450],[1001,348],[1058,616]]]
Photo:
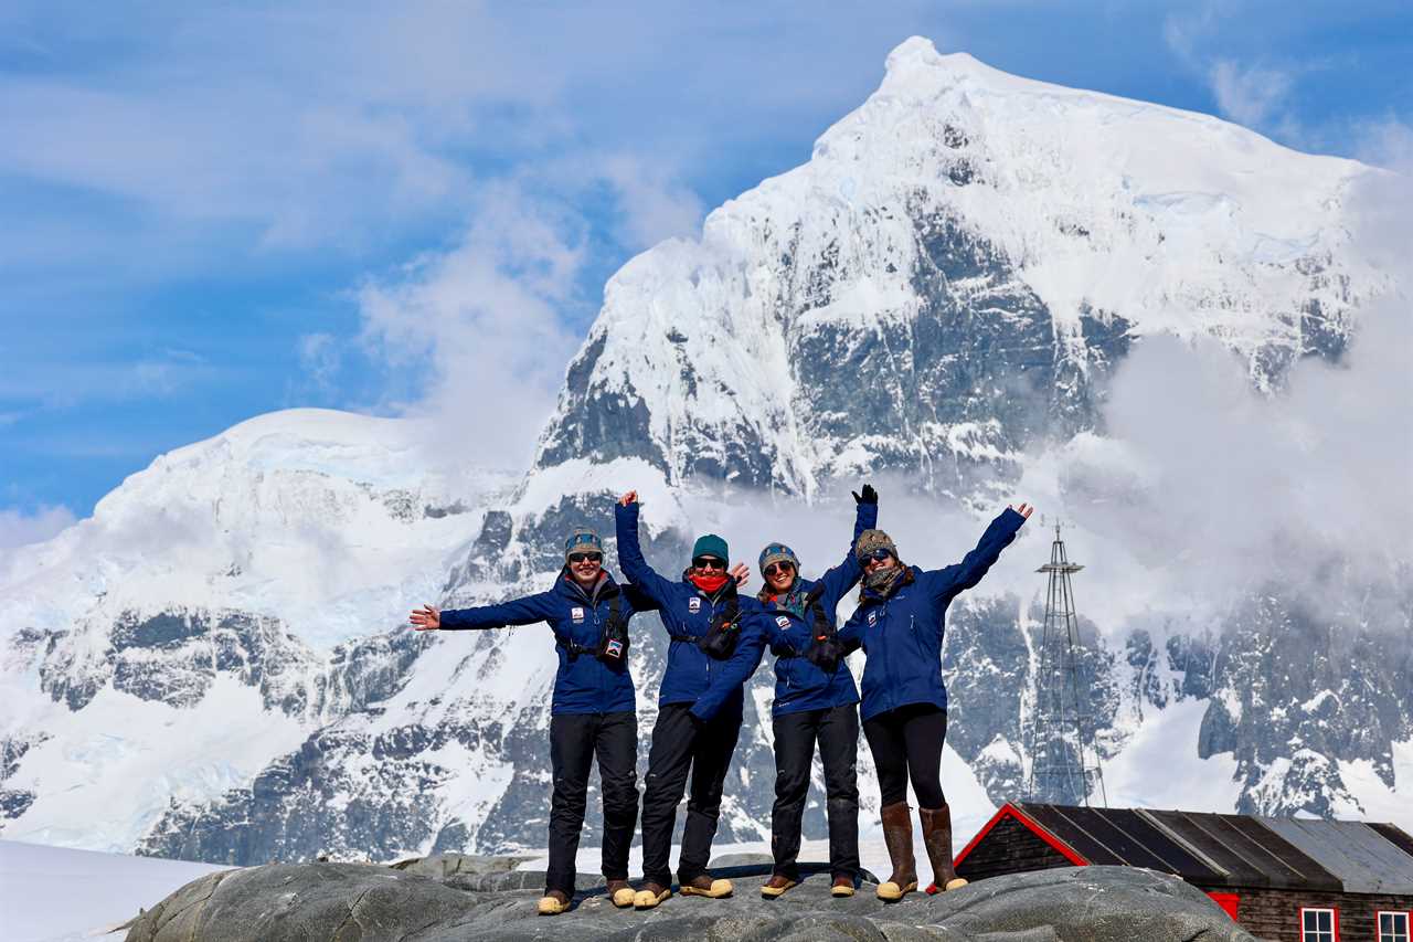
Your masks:
[[[1081,659],[1080,621],[1074,611],[1070,577],[1084,566],[1065,556],[1060,525],[1050,545],[1050,562],[1037,573],[1050,576],[1046,624],[1040,642],[1040,675],[1026,754],[1026,801],[1053,805],[1089,805],[1098,793],[1105,808],[1104,769],[1089,716],[1089,679]]]

